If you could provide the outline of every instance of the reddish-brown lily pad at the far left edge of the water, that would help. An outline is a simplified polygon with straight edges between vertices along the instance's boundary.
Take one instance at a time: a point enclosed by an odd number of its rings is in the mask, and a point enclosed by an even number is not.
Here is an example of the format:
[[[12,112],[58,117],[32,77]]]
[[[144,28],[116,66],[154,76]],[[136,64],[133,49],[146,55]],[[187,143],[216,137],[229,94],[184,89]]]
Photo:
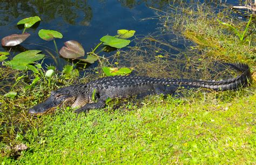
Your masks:
[[[28,38],[29,36],[30,36],[29,33],[24,33],[22,35],[14,34],[14,35],[6,36],[2,39],[2,45],[3,46],[16,46],[16,45],[24,42],[24,40],[26,40],[26,38]]]

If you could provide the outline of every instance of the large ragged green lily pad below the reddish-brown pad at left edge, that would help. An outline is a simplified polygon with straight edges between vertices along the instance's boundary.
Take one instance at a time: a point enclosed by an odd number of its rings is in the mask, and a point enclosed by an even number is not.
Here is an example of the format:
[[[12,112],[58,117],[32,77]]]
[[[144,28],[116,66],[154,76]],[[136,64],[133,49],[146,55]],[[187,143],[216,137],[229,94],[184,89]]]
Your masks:
[[[38,54],[39,50],[30,50],[17,54],[12,60],[7,61],[7,64],[10,65],[15,70],[25,70],[26,68],[31,69],[34,72],[36,67],[29,65],[33,64],[37,60],[44,58],[44,54]]]

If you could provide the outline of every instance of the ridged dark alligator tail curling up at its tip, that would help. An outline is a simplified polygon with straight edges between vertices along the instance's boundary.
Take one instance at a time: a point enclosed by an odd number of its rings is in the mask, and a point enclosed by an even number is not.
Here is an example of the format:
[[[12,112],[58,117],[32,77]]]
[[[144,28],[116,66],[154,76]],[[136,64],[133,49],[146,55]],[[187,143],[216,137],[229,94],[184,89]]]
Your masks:
[[[227,90],[238,90],[241,87],[247,87],[252,82],[252,75],[250,72],[250,68],[247,64],[231,64],[225,63],[225,65],[229,65],[235,70],[241,72],[238,77],[220,80],[220,81],[203,81],[203,80],[188,80],[188,79],[169,79],[169,84],[176,84],[179,86],[184,86],[188,88],[209,88],[214,91],[227,91]]]

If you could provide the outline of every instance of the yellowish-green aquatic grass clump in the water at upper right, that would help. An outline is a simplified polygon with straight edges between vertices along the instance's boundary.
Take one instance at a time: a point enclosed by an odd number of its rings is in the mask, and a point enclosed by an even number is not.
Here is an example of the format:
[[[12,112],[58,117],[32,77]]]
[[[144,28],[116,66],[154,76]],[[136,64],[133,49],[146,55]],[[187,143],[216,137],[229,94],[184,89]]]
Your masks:
[[[172,6],[170,10],[162,15],[160,12],[158,13],[160,22],[163,24],[162,31],[173,31],[178,36],[184,35],[187,40],[195,43],[192,48],[203,52],[205,56],[227,62],[252,64],[253,66],[256,60],[255,23],[253,22],[255,18],[251,17],[243,22],[230,15],[228,10],[216,12],[214,8],[209,8],[204,4],[198,4],[196,9],[188,9],[186,5]],[[237,31],[241,29],[240,37],[237,38],[225,26],[220,26],[218,19],[229,25],[238,24],[232,26]],[[242,42],[240,42],[240,38],[242,38]]]

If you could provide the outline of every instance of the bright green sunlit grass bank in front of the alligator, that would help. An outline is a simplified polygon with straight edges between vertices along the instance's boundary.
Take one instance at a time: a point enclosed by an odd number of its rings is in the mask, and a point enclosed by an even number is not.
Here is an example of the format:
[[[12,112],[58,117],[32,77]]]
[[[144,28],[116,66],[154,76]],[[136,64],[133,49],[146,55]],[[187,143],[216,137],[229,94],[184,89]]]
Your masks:
[[[16,137],[29,147],[18,160],[2,161],[255,163],[256,94],[196,95],[150,97],[142,100],[142,107],[128,104],[130,111],[95,109],[76,116],[70,109],[60,109],[34,119],[42,124]]]

